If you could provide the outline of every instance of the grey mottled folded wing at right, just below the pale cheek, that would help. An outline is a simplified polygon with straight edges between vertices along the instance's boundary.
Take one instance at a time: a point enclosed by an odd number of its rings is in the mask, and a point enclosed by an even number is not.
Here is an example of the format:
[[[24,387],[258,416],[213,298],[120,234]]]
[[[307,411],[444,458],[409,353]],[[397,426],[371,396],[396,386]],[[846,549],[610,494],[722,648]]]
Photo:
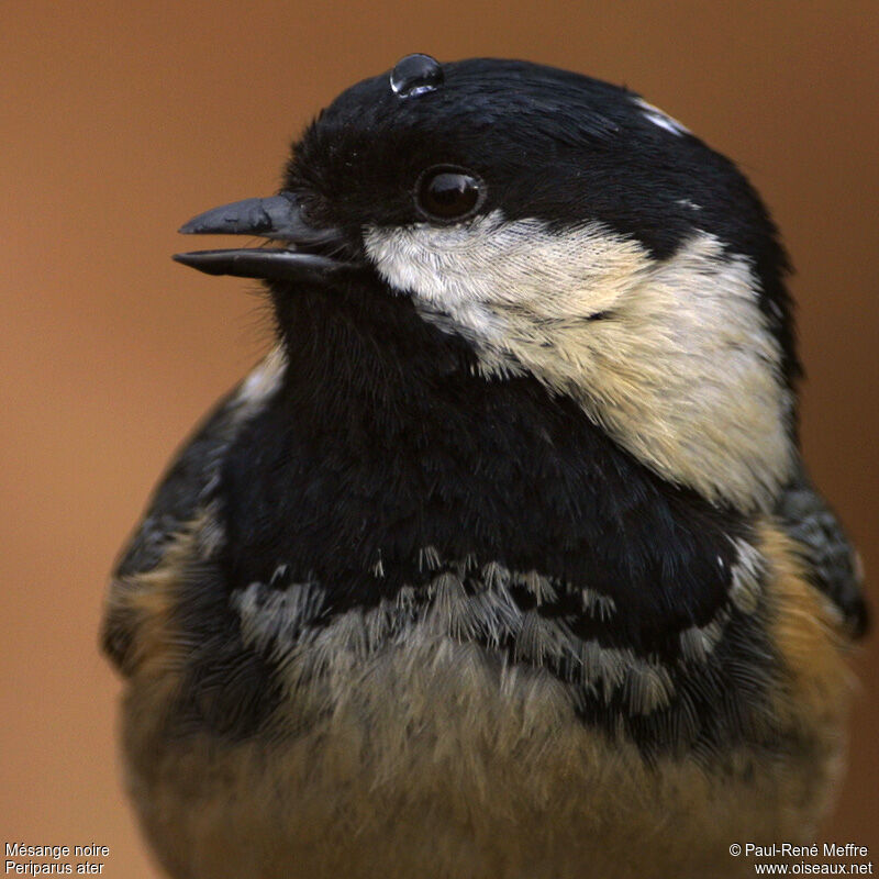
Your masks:
[[[860,637],[868,622],[860,559],[802,463],[779,499],[776,515],[802,547],[813,583],[842,614],[850,635]]]

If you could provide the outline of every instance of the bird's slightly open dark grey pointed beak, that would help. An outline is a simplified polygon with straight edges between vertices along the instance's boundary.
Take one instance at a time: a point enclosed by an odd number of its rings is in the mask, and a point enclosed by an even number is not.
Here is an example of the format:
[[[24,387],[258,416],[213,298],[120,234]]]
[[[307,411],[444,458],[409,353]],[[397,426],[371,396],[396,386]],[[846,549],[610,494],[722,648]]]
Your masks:
[[[320,280],[351,265],[326,255],[340,249],[344,243],[342,232],[309,225],[289,192],[214,208],[193,216],[179,231],[185,235],[258,235],[285,243],[283,247],[238,247],[174,255],[178,263],[208,275]]]

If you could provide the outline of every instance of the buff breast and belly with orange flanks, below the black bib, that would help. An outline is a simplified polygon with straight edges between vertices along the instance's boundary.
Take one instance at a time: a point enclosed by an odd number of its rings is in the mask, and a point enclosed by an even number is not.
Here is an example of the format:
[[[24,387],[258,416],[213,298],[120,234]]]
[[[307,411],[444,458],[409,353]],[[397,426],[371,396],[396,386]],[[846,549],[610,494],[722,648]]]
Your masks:
[[[609,702],[615,732],[590,722],[548,663],[449,631],[456,599],[438,591],[396,630],[348,611],[307,637],[283,627],[291,605],[242,594],[243,641],[272,664],[277,699],[257,730],[231,735],[207,722],[209,706],[229,708],[246,671],[233,663],[197,692],[179,616],[154,594],[125,711],[146,832],[175,877],[735,876],[731,839],[800,838],[822,812],[845,689],[790,545],[767,526],[761,547],[775,658],[763,657],[771,674],[742,719],[748,734],[652,754],[624,730],[631,706]],[[171,603],[174,569],[152,575]],[[300,599],[300,613],[320,607]],[[727,656],[738,677],[758,674],[757,657]],[[733,696],[713,690],[698,720],[722,716]],[[685,722],[681,698],[670,693],[669,728]]]

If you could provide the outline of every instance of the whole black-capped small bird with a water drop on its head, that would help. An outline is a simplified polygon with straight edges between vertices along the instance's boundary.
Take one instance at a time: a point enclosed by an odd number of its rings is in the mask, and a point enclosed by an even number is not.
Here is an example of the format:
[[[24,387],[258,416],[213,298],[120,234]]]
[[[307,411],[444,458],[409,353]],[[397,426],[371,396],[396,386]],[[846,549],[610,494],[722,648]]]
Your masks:
[[[276,346],[178,454],[103,649],[175,879],[752,875],[841,777],[866,626],[788,262],[627,89],[403,58],[179,254]]]

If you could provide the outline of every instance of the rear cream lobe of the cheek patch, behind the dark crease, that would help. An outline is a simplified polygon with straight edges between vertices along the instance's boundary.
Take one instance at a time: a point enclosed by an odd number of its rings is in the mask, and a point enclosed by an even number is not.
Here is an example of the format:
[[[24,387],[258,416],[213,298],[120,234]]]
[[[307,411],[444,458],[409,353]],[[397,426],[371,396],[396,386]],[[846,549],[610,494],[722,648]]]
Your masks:
[[[559,335],[561,355],[545,371],[578,386],[587,409],[663,476],[713,501],[770,508],[792,465],[792,399],[749,264],[701,233],[639,275],[613,320]]]

